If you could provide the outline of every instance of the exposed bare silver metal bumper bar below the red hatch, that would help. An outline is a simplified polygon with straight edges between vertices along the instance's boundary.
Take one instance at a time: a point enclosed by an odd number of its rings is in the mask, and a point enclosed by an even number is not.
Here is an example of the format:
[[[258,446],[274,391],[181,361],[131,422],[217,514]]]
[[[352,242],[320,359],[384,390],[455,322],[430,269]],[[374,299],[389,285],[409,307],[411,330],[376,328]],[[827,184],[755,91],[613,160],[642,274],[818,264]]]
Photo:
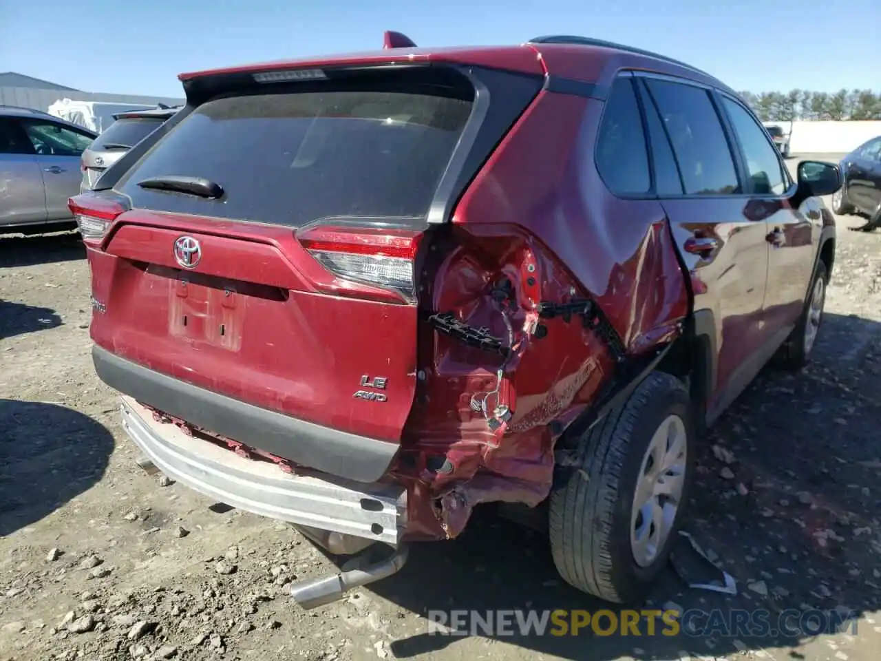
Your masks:
[[[159,470],[227,505],[393,546],[403,535],[403,486],[287,474],[157,422],[130,397],[122,397],[122,426]]]

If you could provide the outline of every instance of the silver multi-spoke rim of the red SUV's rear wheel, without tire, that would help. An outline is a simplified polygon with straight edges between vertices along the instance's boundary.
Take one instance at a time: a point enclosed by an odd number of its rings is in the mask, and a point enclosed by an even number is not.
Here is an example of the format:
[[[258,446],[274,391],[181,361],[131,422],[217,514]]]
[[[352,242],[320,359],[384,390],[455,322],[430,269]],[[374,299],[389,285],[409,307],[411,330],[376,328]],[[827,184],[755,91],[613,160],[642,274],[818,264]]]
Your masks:
[[[630,547],[640,567],[654,562],[670,537],[682,501],[687,459],[685,422],[670,415],[648,442],[633,494]]]

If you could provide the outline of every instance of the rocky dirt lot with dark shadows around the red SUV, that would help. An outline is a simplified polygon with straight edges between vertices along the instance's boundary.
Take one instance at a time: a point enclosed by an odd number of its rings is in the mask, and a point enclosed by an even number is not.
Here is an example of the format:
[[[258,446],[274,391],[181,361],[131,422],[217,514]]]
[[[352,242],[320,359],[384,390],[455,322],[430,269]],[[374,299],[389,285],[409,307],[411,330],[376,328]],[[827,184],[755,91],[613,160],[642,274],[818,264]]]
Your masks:
[[[653,598],[860,616],[855,633],[762,639],[427,635],[429,609],[603,607],[560,583],[540,535],[489,514],[414,547],[397,576],[301,611],[285,584],[326,572],[322,553],[134,464],[93,373],[76,238],[0,239],[0,659],[877,658],[881,232],[846,231],[861,222],[839,219],[813,366],[767,369],[700,457],[687,529],[737,596],[670,571]]]

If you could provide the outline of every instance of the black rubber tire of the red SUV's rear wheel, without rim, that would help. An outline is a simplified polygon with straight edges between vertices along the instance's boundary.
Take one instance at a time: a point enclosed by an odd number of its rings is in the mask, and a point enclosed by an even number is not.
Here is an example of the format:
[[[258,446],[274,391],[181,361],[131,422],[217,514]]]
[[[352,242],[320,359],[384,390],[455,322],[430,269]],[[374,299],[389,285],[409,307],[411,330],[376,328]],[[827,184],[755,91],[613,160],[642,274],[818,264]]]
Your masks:
[[[655,430],[671,414],[685,424],[685,484],[672,530],[647,567],[631,546],[633,497]],[[550,498],[554,564],[574,588],[617,604],[645,598],[670,556],[693,477],[694,427],[685,384],[655,372],[576,442],[573,468],[558,469]]]

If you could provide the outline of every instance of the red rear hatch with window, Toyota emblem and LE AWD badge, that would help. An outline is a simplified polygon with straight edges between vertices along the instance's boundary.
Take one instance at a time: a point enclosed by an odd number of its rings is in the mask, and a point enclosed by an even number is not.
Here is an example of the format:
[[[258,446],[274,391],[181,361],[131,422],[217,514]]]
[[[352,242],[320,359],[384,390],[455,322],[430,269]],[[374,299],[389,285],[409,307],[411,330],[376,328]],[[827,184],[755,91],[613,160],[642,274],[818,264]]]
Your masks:
[[[77,198],[81,214],[112,220],[87,241],[95,342],[252,405],[400,442],[419,264],[543,81],[391,69],[196,81],[171,130]]]

